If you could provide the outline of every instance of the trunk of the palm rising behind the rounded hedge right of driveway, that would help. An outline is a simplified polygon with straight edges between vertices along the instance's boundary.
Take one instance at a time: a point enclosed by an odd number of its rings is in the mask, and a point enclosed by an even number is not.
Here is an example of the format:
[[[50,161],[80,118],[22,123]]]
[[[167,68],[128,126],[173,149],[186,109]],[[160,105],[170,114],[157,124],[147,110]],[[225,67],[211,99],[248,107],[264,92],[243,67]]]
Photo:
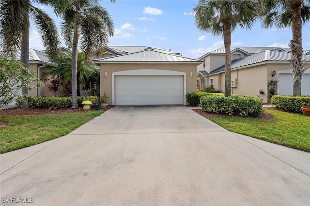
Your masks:
[[[225,46],[225,97],[232,95],[232,54],[231,54],[231,23],[230,16],[221,18],[223,23],[223,38]]]

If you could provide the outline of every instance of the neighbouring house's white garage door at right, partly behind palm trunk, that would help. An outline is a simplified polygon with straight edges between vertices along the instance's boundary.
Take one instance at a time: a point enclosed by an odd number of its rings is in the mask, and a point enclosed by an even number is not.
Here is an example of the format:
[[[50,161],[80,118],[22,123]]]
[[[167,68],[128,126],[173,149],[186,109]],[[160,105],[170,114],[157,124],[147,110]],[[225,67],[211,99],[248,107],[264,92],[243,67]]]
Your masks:
[[[278,94],[293,94],[293,74],[279,74]],[[302,75],[301,95],[310,95],[310,74]]]

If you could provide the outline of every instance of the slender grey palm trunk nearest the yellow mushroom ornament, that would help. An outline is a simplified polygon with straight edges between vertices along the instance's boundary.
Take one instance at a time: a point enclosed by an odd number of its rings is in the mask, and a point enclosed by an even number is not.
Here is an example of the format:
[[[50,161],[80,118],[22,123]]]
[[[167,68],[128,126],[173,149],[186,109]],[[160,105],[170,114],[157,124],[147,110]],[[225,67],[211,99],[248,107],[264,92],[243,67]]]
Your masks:
[[[74,36],[72,44],[72,109],[78,108],[78,79],[77,79],[77,67],[78,67],[78,24],[74,25]]]

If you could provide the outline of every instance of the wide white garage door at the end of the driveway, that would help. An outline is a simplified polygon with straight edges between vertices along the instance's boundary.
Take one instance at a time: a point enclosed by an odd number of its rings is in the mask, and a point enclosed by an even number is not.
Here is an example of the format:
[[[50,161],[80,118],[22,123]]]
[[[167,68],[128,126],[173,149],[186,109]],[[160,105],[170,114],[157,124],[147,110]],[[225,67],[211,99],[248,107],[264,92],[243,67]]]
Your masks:
[[[182,75],[116,75],[116,105],[183,104]]]

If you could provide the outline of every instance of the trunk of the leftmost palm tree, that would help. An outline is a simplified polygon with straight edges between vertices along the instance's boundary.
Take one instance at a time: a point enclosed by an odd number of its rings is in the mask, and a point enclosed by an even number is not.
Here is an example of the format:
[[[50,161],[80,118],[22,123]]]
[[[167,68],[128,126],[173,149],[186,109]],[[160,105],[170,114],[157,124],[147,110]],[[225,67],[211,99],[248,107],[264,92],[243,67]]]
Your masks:
[[[27,24],[27,30],[23,33],[21,40],[21,48],[20,48],[20,61],[25,64],[27,68],[29,68],[29,13],[26,14],[25,21]],[[25,76],[29,76],[28,73],[23,74]],[[22,81],[24,83],[24,81]],[[21,109],[29,109],[28,104],[28,88],[21,88],[21,93],[23,95]]]

